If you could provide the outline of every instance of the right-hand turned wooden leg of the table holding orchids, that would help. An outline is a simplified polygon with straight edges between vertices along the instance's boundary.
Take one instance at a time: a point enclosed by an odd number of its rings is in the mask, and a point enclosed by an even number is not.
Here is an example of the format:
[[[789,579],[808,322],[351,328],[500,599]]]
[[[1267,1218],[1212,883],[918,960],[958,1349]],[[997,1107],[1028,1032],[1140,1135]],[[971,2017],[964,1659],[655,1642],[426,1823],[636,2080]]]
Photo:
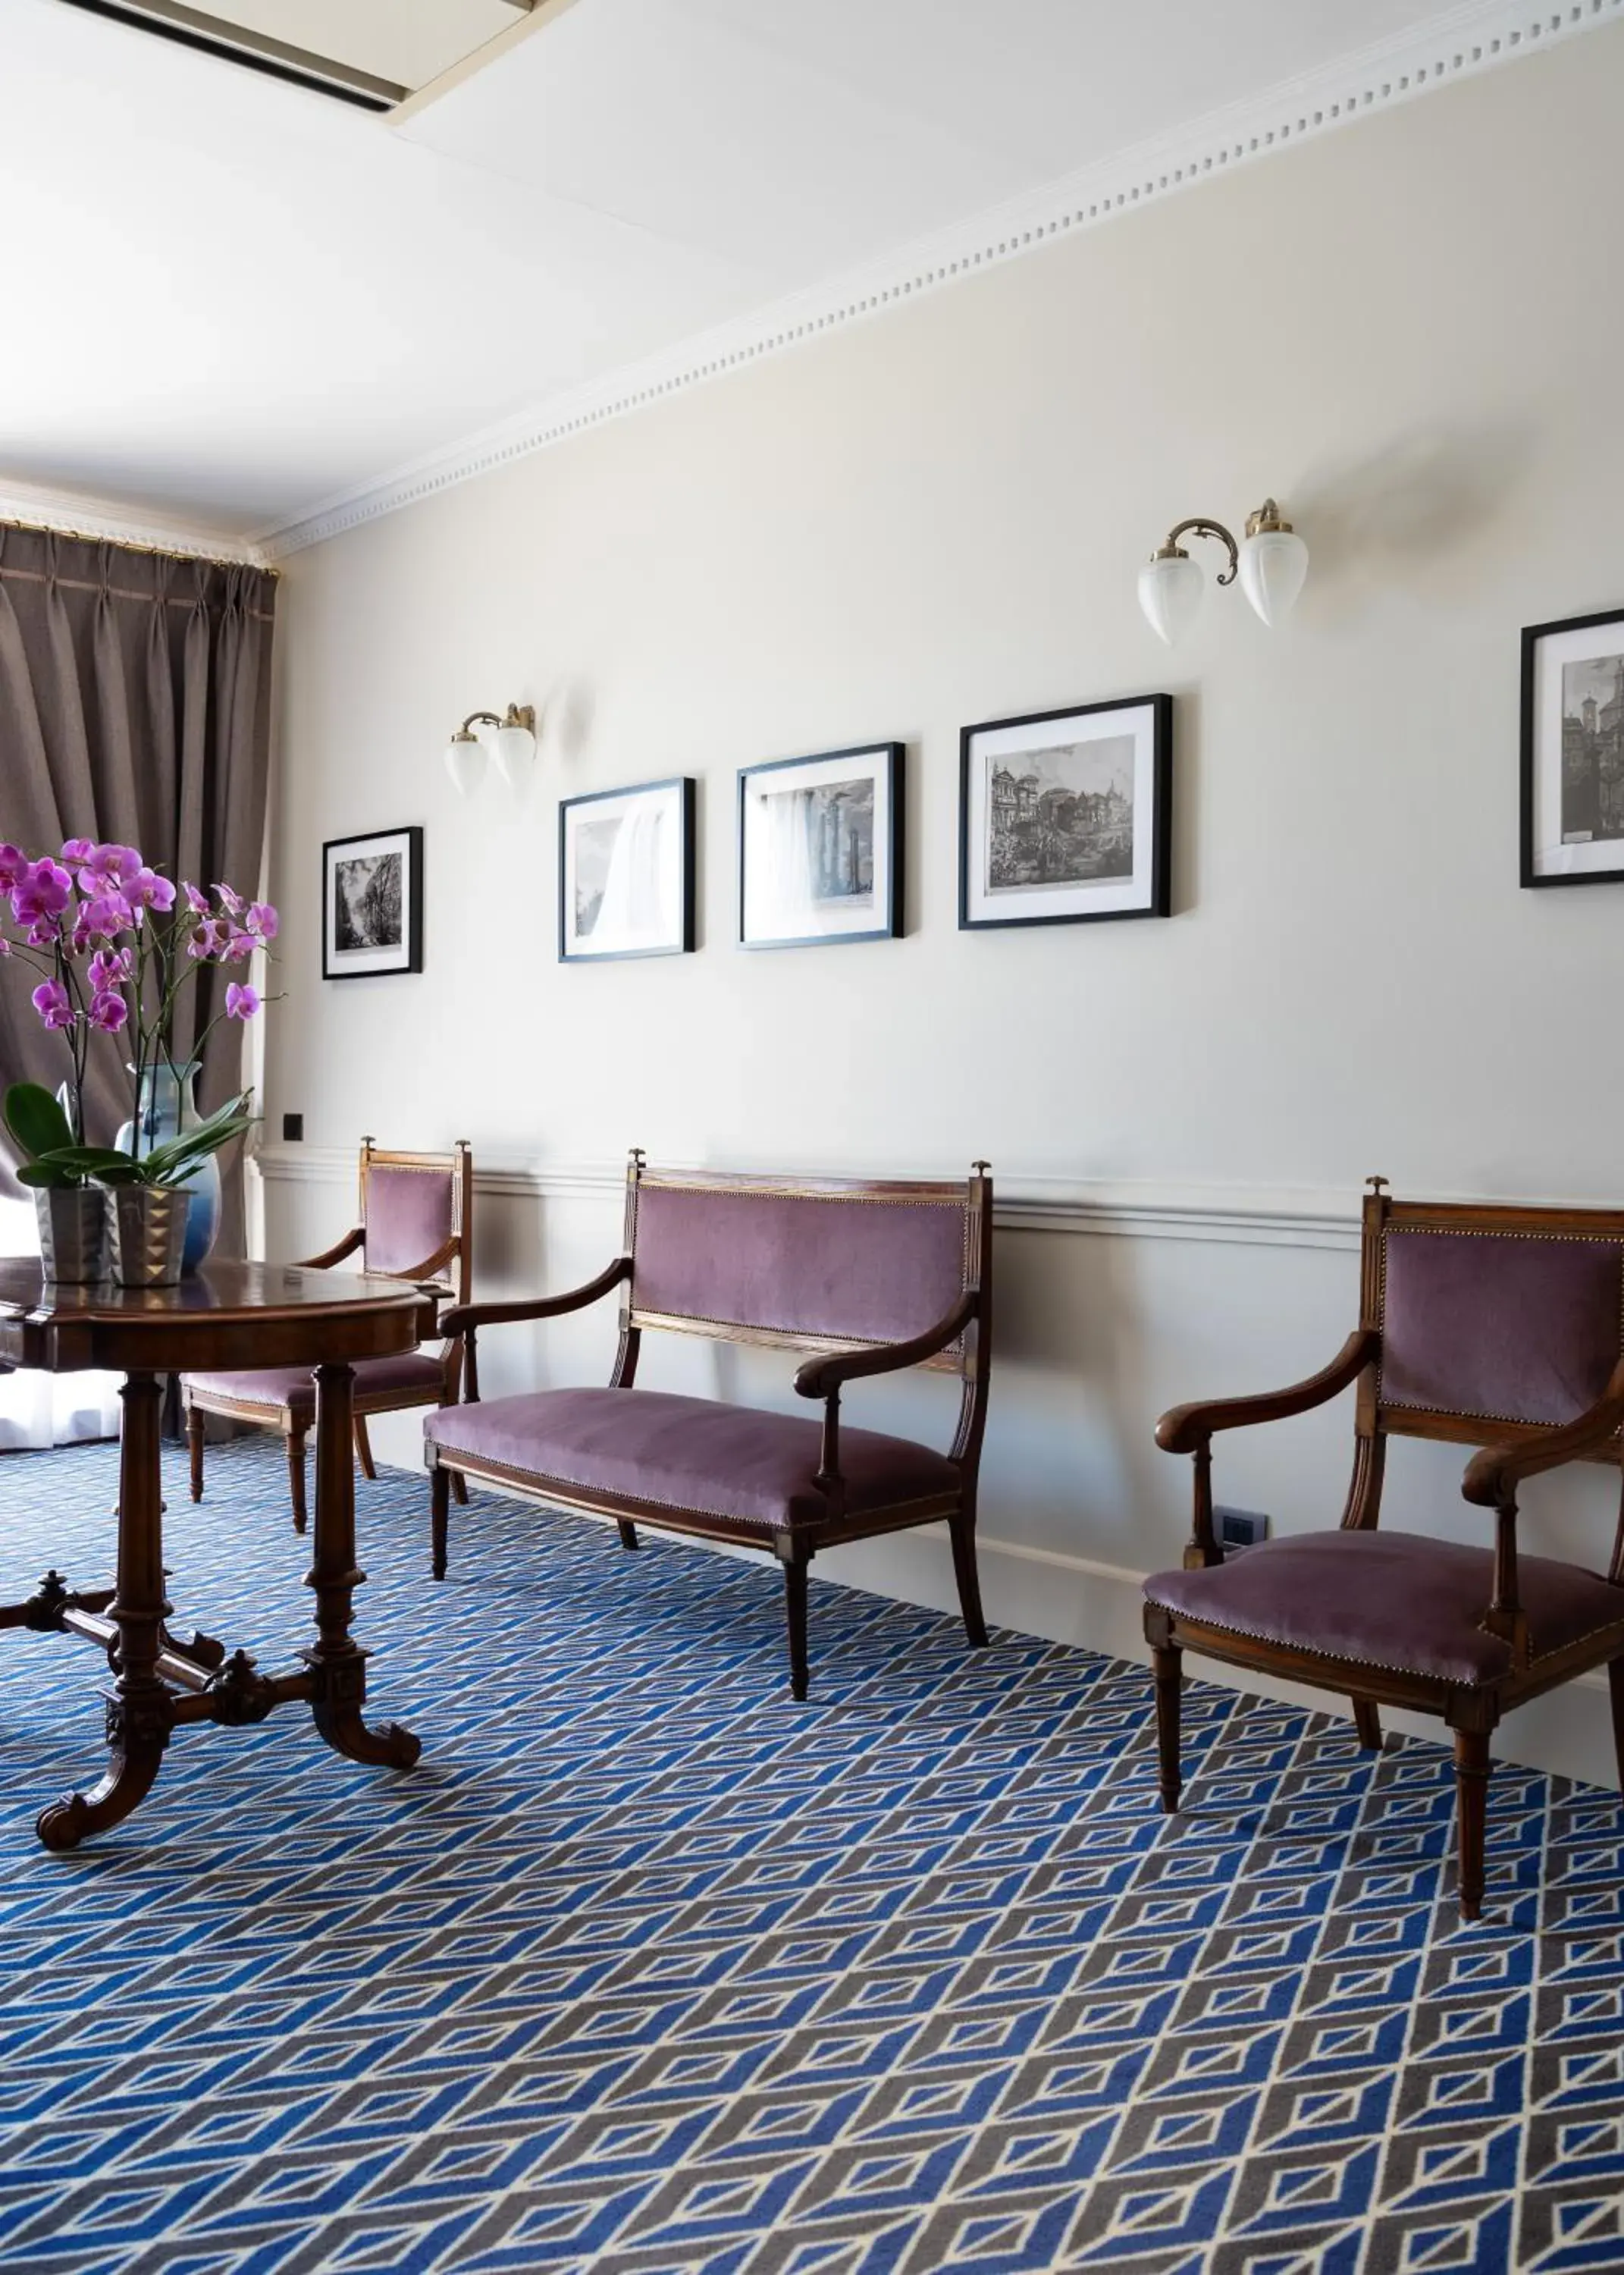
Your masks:
[[[366,1652],[350,1636],[355,1590],[355,1372],[316,1367],[316,1556],[305,1586],[316,1590],[316,1647],[305,1663],[316,1679],[312,1713],[337,1754],[389,1770],[409,1770],[423,1752],[398,1722],[373,1729],[362,1720]]]

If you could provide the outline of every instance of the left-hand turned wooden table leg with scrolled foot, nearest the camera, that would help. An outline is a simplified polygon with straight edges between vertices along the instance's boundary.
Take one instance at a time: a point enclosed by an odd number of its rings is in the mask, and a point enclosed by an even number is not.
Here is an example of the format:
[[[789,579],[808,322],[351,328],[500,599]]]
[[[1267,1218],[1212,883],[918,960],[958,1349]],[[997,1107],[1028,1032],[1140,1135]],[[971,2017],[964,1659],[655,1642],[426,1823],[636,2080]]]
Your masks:
[[[118,1447],[118,1590],[107,1615],[118,1629],[118,1686],[107,1699],[107,1774],[89,1793],[64,1793],[39,1818],[50,1850],[77,1847],[86,1834],[123,1822],[152,1790],[171,1729],[168,1688],[157,1674],[164,1647],[164,1472],[157,1374],[130,1374],[121,1390],[125,1420]]]

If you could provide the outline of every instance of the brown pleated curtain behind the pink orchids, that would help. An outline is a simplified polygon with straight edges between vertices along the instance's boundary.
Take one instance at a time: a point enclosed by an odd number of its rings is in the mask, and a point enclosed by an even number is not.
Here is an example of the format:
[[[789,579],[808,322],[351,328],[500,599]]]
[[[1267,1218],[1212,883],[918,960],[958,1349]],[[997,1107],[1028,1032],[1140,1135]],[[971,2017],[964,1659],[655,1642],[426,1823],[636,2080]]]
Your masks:
[[[55,853],[66,837],[141,846],[152,867],[255,894],[271,767],[275,578],[89,537],[0,523],[0,842]],[[189,990],[175,1056],[221,1008],[225,974]],[[237,1021],[205,1044],[205,1112],[241,1087]],[[86,1133],[130,1115],[125,1037],[93,1037]],[[68,1074],[20,969],[0,967],[0,1083]],[[241,1149],[223,1160],[221,1249],[241,1254]],[[0,1174],[5,1172],[0,1163]],[[16,1190],[7,1176],[7,1188]]]

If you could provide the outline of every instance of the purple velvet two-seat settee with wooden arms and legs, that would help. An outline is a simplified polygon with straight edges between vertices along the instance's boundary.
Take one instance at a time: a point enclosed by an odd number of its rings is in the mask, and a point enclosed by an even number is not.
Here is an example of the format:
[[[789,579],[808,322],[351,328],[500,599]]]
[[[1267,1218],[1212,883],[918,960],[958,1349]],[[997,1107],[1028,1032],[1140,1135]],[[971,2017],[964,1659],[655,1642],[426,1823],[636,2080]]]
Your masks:
[[[607,1390],[480,1401],[478,1335],[548,1320],[619,1290],[621,1347]],[[946,1522],[964,1633],[987,1640],[976,1581],[976,1470],[992,1363],[992,1178],[853,1183],[646,1169],[625,1178],[623,1254],[571,1294],[469,1304],[466,1404],[423,1422],[434,1579],[446,1577],[450,1486],[482,1479],[562,1508],[767,1549],[785,1572],[789,1686],[807,1693],[807,1563],[821,1547]],[[769,1413],[632,1388],[644,1329],[810,1354],[794,1376],[823,1415]],[[962,1381],[946,1454],[846,1429],[846,1383],[898,1367]]]

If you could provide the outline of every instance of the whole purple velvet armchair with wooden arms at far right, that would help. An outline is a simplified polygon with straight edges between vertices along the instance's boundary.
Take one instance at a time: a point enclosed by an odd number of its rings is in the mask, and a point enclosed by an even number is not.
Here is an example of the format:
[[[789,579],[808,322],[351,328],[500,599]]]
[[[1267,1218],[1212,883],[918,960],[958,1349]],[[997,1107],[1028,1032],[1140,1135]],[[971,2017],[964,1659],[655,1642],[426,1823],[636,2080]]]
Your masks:
[[[1360,1324],[1292,1390],[1176,1406],[1155,1442],[1194,1456],[1194,1538],[1144,1583],[1162,1806],[1180,1797],[1183,1652],[1353,1702],[1360,1745],[1383,1704],[1444,1718],[1456,1743],[1460,1911],[1483,1904],[1490,1734],[1524,1699],[1606,1665],[1624,1784],[1624,1515],[1606,1570],[1524,1556],[1517,1488],[1567,1461],[1617,1467],[1624,1424],[1624,1210],[1365,1201]],[[1358,1385],[1340,1531],[1265,1540],[1224,1563],[1212,1438],[1306,1413]],[[1492,1545],[1378,1531],[1387,1438],[1483,1447],[1463,1495]]]

